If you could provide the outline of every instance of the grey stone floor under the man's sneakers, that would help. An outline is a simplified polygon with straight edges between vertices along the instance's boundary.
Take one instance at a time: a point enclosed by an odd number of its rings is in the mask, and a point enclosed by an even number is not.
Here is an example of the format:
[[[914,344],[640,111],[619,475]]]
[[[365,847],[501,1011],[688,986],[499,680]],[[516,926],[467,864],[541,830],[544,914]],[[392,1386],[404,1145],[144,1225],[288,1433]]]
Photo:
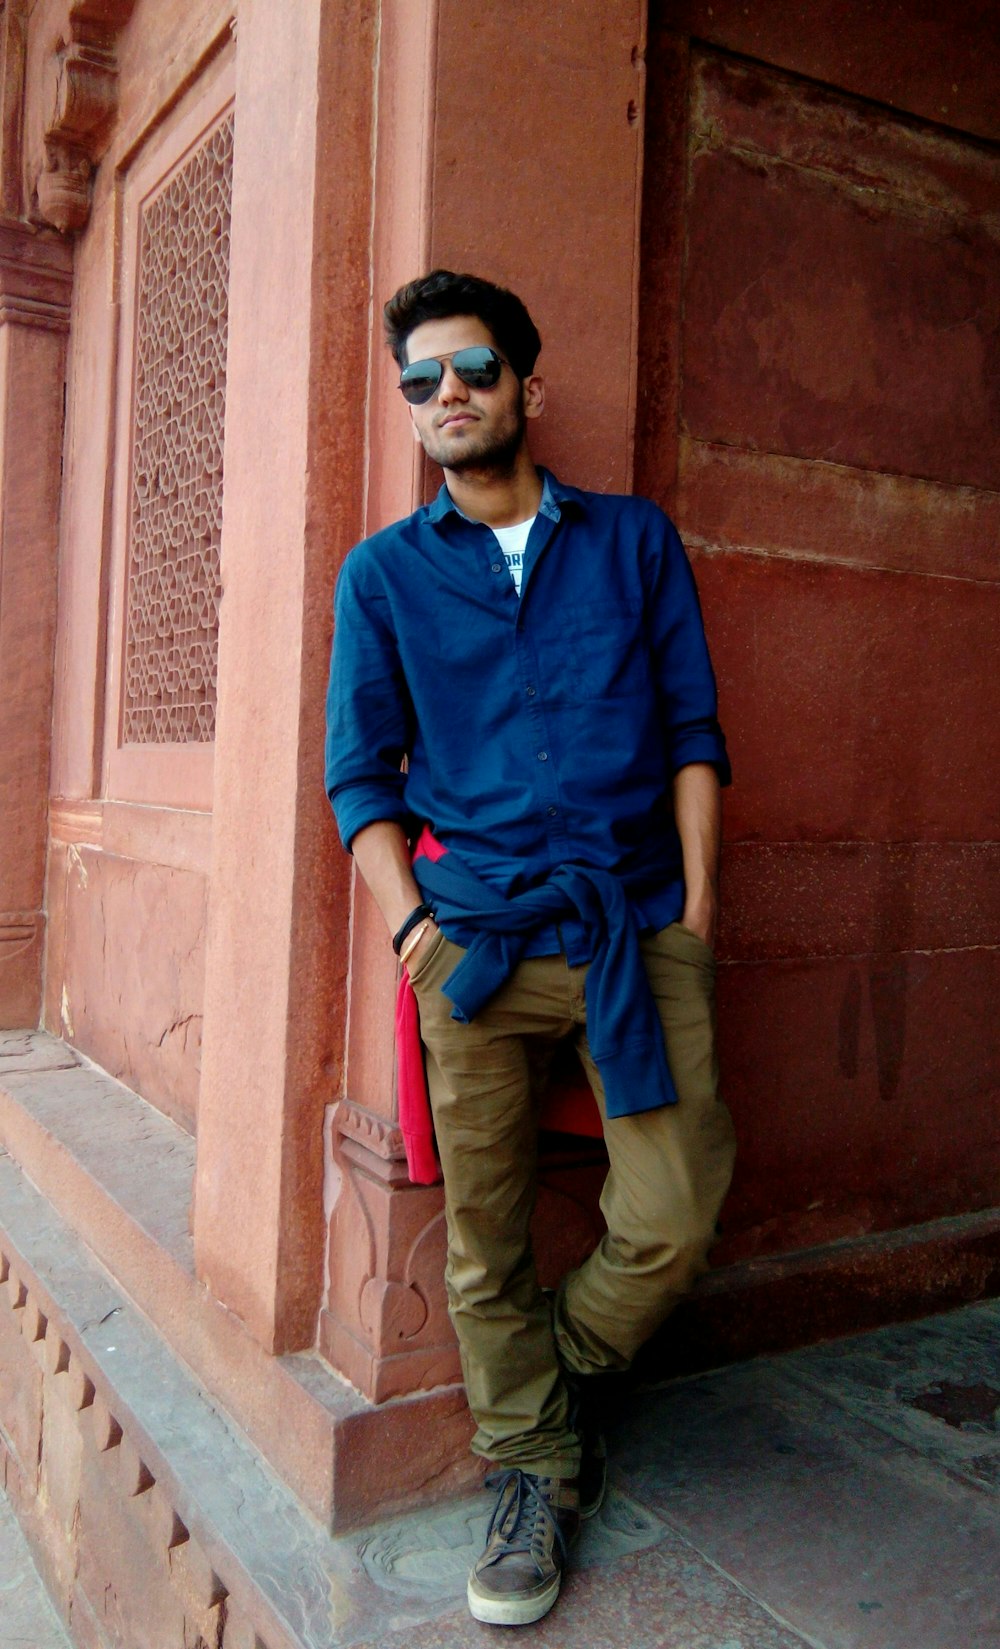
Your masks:
[[[611,1443],[546,1621],[465,1614],[483,1494],[332,1542],[328,1649],[1000,1646],[1000,1303],[635,1392]],[[0,1649],[63,1644],[18,1539]]]

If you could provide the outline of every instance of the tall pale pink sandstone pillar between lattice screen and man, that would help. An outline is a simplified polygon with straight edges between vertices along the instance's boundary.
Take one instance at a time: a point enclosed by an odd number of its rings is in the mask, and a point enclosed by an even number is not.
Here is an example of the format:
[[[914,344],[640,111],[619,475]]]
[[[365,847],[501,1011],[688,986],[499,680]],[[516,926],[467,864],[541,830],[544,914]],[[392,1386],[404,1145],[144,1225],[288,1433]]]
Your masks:
[[[246,0],[236,148],[198,1275],[274,1349],[322,1293],[347,874],[322,778],[330,592],[361,529],[366,7]]]

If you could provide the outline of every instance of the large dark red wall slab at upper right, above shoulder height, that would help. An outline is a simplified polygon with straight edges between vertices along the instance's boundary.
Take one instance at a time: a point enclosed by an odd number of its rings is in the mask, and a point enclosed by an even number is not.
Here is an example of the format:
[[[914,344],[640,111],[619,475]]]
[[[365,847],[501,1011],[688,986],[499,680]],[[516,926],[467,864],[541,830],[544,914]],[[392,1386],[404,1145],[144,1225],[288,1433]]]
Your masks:
[[[825,110],[802,91],[789,135],[781,81],[716,59],[698,74],[708,92],[691,135],[691,434],[995,486],[993,239],[954,191],[936,198],[919,152],[893,155],[876,183],[858,178],[855,130],[878,132],[883,115],[838,109],[833,97]],[[733,106],[744,119],[729,135]],[[799,130],[810,152],[795,145]],[[954,142],[950,150],[960,155]],[[993,175],[993,200],[998,186]]]

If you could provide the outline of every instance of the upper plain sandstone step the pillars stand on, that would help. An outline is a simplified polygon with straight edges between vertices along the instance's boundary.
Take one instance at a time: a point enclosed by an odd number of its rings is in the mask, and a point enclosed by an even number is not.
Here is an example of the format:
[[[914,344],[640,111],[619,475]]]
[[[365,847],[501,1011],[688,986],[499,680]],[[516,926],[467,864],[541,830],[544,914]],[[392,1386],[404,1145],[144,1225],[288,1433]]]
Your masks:
[[[315,1352],[269,1355],[198,1283],[195,1141],[130,1088],[43,1031],[0,1031],[0,1143],[328,1527],[467,1479],[460,1388],[373,1405]]]

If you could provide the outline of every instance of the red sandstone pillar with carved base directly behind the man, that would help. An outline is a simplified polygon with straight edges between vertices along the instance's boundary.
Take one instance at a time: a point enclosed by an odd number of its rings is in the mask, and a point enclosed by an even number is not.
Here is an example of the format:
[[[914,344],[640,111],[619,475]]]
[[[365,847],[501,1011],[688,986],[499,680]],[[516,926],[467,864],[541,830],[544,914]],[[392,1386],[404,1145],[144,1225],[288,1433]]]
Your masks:
[[[611,491],[632,478],[644,16],[640,0],[520,7],[513,30],[503,7],[480,7],[472,20],[460,0],[381,7],[376,320],[399,282],[436,264],[515,287],[540,325],[551,381],[536,457]],[[503,96],[487,112],[472,87],[497,84],[498,64]],[[368,440],[375,531],[406,514],[422,483],[378,327]],[[363,887],[350,966],[320,1344],[381,1400],[455,1380],[459,1362],[441,1281],[441,1191],[409,1186],[401,1161],[394,966]],[[540,1242],[556,1275],[592,1245],[587,1210],[573,1184],[540,1197]]]

